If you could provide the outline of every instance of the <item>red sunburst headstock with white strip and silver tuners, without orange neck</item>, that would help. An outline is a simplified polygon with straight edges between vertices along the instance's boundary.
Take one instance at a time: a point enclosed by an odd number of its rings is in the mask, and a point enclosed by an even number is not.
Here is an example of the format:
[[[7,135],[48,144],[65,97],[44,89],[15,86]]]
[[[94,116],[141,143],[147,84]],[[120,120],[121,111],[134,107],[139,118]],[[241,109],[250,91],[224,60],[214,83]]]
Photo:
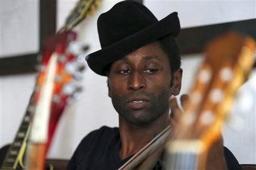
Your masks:
[[[32,122],[36,128],[32,126],[31,141],[48,141],[49,144],[64,108],[81,92],[77,82],[84,70],[84,62],[79,56],[84,46],[75,40],[75,32],[64,31],[49,37],[44,45],[30,106],[34,108],[30,109],[32,115],[37,116]],[[47,114],[49,116],[45,117]],[[37,120],[49,121],[48,126],[42,126],[42,122],[38,124]],[[42,129],[44,133],[39,133]]]

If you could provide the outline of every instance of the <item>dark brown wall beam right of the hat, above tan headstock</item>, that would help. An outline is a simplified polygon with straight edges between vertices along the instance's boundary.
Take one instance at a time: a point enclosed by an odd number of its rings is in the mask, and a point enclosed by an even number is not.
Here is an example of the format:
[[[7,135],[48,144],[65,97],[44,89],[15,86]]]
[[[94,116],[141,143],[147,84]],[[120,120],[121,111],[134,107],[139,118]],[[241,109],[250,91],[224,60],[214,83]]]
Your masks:
[[[201,53],[209,40],[229,31],[251,36],[256,40],[256,19],[181,29],[177,43],[181,54]]]

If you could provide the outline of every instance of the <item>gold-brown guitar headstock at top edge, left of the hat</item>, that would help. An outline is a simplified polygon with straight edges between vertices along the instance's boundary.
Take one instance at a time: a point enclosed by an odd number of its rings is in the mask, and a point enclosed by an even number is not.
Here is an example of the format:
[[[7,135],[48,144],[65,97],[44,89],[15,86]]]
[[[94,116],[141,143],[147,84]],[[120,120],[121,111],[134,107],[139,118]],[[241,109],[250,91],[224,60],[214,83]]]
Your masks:
[[[79,24],[84,18],[93,14],[99,6],[100,0],[80,0],[66,19],[63,29],[70,30]]]

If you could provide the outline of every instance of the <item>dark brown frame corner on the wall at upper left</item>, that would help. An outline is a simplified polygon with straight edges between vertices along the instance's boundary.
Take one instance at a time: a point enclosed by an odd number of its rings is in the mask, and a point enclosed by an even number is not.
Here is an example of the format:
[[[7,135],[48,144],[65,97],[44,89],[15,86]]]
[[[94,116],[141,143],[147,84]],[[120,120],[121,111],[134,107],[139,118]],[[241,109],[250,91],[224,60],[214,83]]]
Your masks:
[[[56,32],[56,7],[56,0],[39,1],[39,49]],[[0,75],[35,73],[38,55],[39,52],[0,58]]]

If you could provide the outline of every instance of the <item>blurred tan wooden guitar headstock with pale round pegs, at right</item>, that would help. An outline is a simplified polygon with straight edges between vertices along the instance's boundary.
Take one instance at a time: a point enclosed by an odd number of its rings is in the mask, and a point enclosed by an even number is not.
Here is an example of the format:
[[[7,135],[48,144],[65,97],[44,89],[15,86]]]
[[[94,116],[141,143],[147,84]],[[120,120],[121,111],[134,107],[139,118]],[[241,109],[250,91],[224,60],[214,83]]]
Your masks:
[[[207,152],[220,138],[234,94],[254,65],[255,46],[253,39],[234,32],[208,44],[168,151]]]

